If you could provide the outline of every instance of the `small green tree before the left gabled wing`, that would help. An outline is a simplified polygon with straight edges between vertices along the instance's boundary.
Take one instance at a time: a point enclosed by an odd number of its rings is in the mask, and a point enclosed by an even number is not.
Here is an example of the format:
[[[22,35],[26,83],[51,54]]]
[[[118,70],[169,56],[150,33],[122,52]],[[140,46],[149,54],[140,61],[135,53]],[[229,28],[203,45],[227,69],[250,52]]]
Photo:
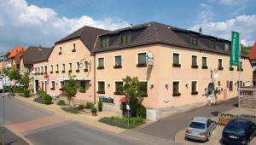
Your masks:
[[[70,106],[70,102],[71,102],[73,96],[76,96],[76,94],[78,93],[77,83],[73,79],[73,77],[70,77],[70,79],[67,82],[65,82],[64,90],[65,90],[65,94],[67,96],[67,100],[68,100],[69,106]]]

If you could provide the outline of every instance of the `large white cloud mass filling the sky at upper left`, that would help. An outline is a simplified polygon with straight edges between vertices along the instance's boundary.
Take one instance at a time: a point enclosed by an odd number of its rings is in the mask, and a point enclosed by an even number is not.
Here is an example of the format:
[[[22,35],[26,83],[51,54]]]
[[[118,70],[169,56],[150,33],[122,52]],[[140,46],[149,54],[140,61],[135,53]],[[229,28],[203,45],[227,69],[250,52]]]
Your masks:
[[[0,50],[14,45],[52,46],[84,25],[108,30],[129,26],[128,22],[116,18],[60,17],[53,9],[28,5],[26,0],[0,0],[0,9]]]

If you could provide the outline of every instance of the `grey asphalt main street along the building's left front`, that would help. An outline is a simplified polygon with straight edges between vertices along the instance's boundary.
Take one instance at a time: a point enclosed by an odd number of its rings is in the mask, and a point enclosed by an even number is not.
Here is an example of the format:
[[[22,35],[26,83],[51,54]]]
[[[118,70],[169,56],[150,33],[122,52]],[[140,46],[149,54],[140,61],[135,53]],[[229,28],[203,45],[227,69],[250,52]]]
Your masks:
[[[3,103],[3,99],[0,100],[0,104]],[[50,118],[53,113],[44,111],[41,108],[34,107],[20,102],[14,98],[6,98],[6,120],[8,126],[13,126],[16,131],[21,129],[22,135],[24,135],[29,141],[39,145],[70,145],[70,144],[85,144],[85,145],[114,145],[114,144],[143,144],[137,140],[131,140],[124,136],[118,136],[107,131],[102,131],[93,128],[89,125],[80,124],[71,120],[65,119],[61,123],[54,125],[46,124],[45,118]],[[2,105],[0,106],[2,111]],[[0,119],[2,118],[2,114]],[[54,116],[54,119],[57,116]],[[49,120],[50,121],[50,120]],[[28,126],[33,130],[27,131],[27,128],[21,125],[27,125],[27,123],[40,123],[44,125],[41,128],[36,128],[35,125]],[[38,125],[41,125],[38,124]],[[19,126],[20,125],[20,126]],[[47,125],[47,126],[45,126]],[[36,128],[36,129],[35,129]],[[12,143],[10,143],[12,144]]]

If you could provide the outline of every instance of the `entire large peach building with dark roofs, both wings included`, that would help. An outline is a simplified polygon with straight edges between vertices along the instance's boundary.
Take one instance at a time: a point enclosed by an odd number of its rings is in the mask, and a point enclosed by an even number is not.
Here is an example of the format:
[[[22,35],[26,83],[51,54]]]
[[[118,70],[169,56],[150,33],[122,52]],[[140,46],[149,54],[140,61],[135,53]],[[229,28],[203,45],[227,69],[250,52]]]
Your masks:
[[[144,84],[142,90],[147,95],[143,105],[152,119],[166,116],[177,107],[207,103],[207,90],[212,83],[214,90],[219,90],[218,100],[237,96],[238,69],[230,67],[228,40],[157,22],[98,32],[97,37],[90,35],[90,29],[83,29],[84,37],[90,36],[90,40],[75,37],[77,33],[81,35],[80,29],[70,35],[72,39],[67,37],[55,44],[49,62],[36,64],[41,71],[37,74],[42,74],[38,79],[42,88],[51,88],[49,93],[58,95],[61,91],[55,87],[61,89],[61,82],[68,79],[66,72],[72,70],[82,86],[82,80],[85,88],[88,86],[77,99],[98,102],[105,98],[112,104],[108,106],[120,108],[125,106],[124,96],[118,90],[122,78],[137,77]],[[79,68],[81,64],[88,73]],[[43,78],[44,67],[52,72],[48,79]],[[251,82],[253,69],[246,55],[241,55],[241,67],[242,82]],[[75,70],[78,71],[74,73]]]

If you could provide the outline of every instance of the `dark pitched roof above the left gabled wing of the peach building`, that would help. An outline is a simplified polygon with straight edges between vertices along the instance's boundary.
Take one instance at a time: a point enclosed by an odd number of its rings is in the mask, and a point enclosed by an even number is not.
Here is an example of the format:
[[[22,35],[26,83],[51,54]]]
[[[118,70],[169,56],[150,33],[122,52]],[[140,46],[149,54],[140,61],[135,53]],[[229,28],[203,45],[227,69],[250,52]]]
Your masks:
[[[55,44],[60,44],[75,38],[80,38],[84,45],[91,50],[94,47],[97,36],[106,32],[109,31],[91,26],[83,26],[79,30],[67,35],[67,37],[61,38],[61,40],[57,41]]]

